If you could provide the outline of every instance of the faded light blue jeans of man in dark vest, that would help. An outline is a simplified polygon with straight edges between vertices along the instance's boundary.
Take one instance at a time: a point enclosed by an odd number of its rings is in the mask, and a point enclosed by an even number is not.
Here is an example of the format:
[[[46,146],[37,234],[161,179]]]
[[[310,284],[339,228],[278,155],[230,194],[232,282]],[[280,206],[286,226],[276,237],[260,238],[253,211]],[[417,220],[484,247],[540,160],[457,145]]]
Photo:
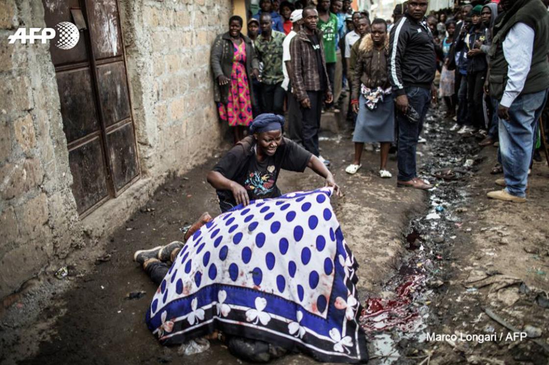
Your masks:
[[[509,120],[500,118],[501,164],[505,189],[511,195],[526,196],[536,123],[544,110],[548,90],[519,95],[509,107]]]

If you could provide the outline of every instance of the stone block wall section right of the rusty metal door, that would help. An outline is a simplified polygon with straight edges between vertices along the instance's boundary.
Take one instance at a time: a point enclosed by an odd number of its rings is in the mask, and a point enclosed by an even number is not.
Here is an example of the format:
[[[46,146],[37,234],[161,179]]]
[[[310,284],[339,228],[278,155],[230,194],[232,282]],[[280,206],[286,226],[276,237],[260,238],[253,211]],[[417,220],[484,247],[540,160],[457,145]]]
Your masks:
[[[219,145],[210,47],[231,1],[119,3],[142,171],[181,172]]]

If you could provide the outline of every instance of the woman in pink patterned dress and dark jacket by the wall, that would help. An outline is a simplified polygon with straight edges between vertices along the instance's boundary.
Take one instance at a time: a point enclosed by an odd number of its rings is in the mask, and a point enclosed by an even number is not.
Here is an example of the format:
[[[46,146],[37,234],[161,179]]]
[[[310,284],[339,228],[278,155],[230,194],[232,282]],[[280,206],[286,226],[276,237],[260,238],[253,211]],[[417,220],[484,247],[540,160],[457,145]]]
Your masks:
[[[229,31],[216,37],[211,52],[215,101],[221,120],[233,128],[235,143],[244,138],[244,130],[253,121],[250,77],[259,75],[254,48],[241,30],[242,18],[232,16]]]

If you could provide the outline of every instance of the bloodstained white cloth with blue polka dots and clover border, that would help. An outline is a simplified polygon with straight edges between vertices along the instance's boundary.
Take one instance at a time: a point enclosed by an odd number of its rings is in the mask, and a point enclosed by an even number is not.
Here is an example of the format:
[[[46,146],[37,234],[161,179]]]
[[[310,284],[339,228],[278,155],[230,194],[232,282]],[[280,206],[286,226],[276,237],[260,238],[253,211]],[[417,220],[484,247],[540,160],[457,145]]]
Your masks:
[[[221,330],[317,361],[366,362],[358,265],[332,192],[258,199],[202,226],[156,291],[149,329],[164,345]]]

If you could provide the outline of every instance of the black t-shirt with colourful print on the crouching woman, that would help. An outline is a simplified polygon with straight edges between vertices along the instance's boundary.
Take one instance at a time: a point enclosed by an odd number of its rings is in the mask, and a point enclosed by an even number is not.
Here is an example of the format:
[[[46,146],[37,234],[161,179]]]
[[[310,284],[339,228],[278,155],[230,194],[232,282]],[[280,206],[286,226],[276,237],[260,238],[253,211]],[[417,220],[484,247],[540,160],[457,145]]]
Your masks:
[[[275,155],[266,156],[259,162],[255,155],[255,145],[254,136],[247,136],[232,147],[213,169],[244,186],[250,201],[280,196],[281,192],[276,186],[280,170],[304,172],[311,158],[311,152],[284,138]],[[217,195],[221,202],[236,206],[230,190],[218,190]]]

